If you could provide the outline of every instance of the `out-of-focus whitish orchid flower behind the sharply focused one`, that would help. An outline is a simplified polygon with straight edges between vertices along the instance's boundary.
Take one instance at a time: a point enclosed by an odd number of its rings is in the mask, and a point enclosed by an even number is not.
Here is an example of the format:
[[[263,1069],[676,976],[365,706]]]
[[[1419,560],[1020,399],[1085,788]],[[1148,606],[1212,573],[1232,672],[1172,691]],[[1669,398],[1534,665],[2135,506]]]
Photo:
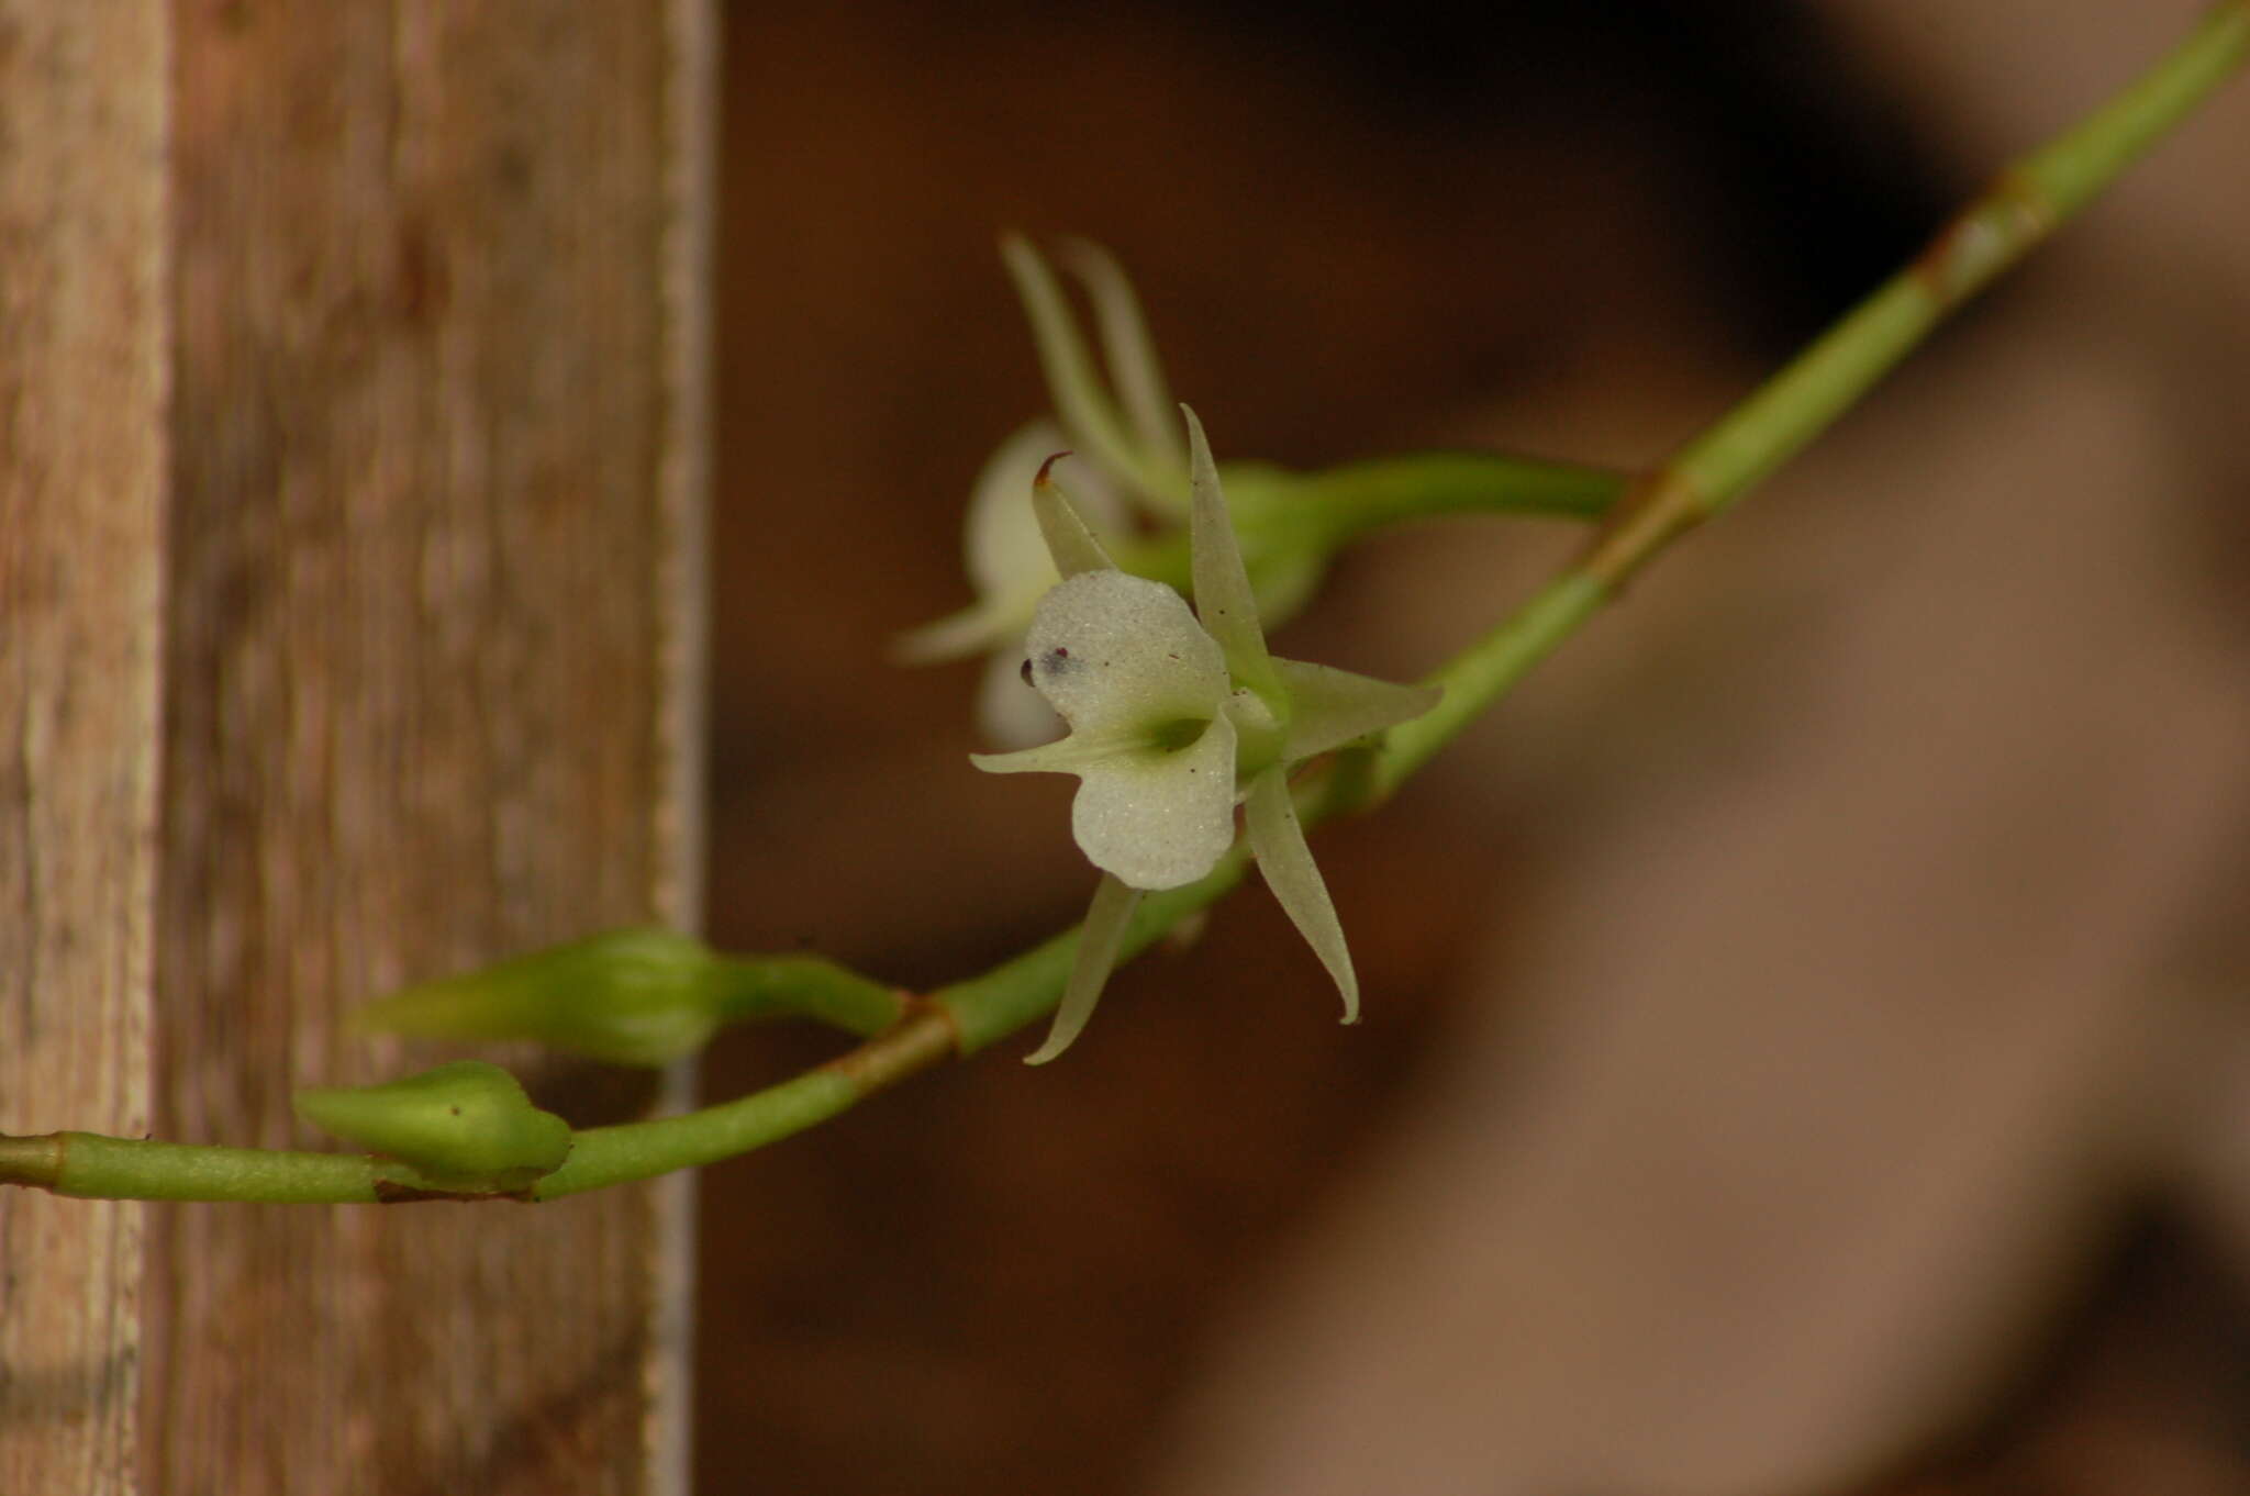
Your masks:
[[[1062,283],[1028,241],[1010,234],[1001,256],[1030,319],[1040,364],[1060,421],[1019,427],[986,461],[970,490],[963,560],[976,601],[900,637],[907,661],[958,659],[990,650],[976,688],[976,724],[988,742],[1024,747],[1055,731],[1055,713],[1019,688],[1024,630],[1033,605],[1058,571],[1024,490],[1048,454],[1087,454],[1087,481],[1073,493],[1080,517],[1105,542],[1132,535],[1134,515],[1177,524],[1190,506],[1188,452],[1170,418],[1163,367],[1132,283],[1107,250],[1062,243],[1062,263],[1087,290],[1100,342],[1100,364],[1071,317]],[[1107,371],[1107,378],[1102,376]],[[1249,472],[1240,472],[1251,481]],[[1276,565],[1260,571],[1267,610],[1294,612],[1318,567]]]

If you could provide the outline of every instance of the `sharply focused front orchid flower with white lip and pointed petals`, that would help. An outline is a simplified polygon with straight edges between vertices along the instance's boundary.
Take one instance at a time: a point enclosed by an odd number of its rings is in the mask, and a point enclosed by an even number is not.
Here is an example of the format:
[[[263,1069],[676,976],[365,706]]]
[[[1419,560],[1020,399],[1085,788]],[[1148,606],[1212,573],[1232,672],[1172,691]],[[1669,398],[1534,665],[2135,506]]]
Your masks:
[[[970,756],[992,774],[1076,774],[1071,832],[1102,871],[1055,1026],[1030,1064],[1053,1060],[1084,1028],[1141,893],[1190,884],[1220,864],[1235,839],[1238,801],[1267,886],[1334,976],[1343,1021],[1357,1021],[1359,979],[1289,799],[1289,765],[1438,704],[1433,686],[1267,652],[1210,443],[1195,412],[1181,412],[1197,610],[1163,583],[1118,571],[1042,468],[1030,506],[1062,583],[1033,612],[1022,668],[1071,733]]]

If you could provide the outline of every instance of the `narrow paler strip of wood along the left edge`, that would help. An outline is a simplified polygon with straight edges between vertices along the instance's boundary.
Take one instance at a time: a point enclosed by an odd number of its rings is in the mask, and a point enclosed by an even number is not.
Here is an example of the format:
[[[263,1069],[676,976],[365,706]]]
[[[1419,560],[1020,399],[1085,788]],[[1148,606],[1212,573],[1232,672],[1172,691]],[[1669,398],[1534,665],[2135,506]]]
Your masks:
[[[164,16],[0,0],[0,1132],[140,1132]],[[142,1208],[0,1192],[0,1492],[133,1489]]]

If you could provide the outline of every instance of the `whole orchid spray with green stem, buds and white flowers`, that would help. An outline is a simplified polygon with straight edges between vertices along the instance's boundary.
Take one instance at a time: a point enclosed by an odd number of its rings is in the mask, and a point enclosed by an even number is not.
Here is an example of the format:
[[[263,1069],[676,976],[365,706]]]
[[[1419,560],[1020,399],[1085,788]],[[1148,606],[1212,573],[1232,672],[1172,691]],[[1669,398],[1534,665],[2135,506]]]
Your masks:
[[[554,1199],[749,1152],[1048,1015],[1053,1028],[1030,1060],[1053,1060],[1118,958],[1238,882],[1246,862],[1238,805],[1251,857],[1328,965],[1350,1021],[1357,979],[1300,814],[1359,810],[1413,776],[1640,567],[1818,436],[2246,58],[2250,2],[2223,0],[2169,56],[2014,162],[1910,265],[1634,481],[1496,452],[1411,452],[1312,475],[1231,466],[1222,486],[1195,414],[1186,412],[1184,436],[1172,425],[1138,301],[1116,263],[1087,245],[1066,247],[1096,313],[1105,380],[1055,274],[1030,245],[1008,241],[1060,421],[1019,432],[986,468],[968,540],[976,603],[918,630],[909,648],[922,657],[992,650],[988,700],[1001,700],[999,686],[1012,688],[1017,673],[1028,679],[1035,695],[1017,691],[1006,704],[1015,724],[1001,724],[1004,738],[1022,738],[1026,700],[1069,724],[1058,742],[974,763],[994,774],[1078,776],[1071,823],[1100,868],[1082,929],[929,994],[817,956],[724,956],[675,931],[612,931],[410,988],[364,1010],[362,1028],[536,1039],[619,1064],[666,1064],[724,1024],[763,1017],[808,1017],[864,1042],[752,1096],[614,1127],[572,1129],[475,1062],[299,1096],[306,1123],[362,1154],[0,1134],[0,1183],[106,1199]],[[1064,436],[1087,452],[1089,481],[1076,502],[1053,477]],[[1384,524],[1458,513],[1602,526],[1584,553],[1420,686],[1267,652],[1260,614],[1300,603],[1339,547]],[[1195,594],[1192,612],[1181,587]],[[1292,783],[1298,765],[1361,742],[1334,758],[1350,774],[1312,769]]]

